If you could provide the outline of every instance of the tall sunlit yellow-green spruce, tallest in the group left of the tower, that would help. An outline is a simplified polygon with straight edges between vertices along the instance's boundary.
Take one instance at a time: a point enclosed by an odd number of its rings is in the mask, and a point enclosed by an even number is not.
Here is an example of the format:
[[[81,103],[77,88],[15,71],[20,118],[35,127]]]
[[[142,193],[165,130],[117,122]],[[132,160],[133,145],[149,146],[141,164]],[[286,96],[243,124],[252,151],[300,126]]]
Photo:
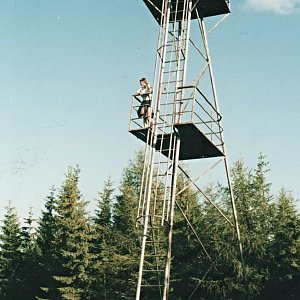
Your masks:
[[[84,299],[89,287],[87,269],[90,263],[90,230],[86,203],[78,189],[79,168],[69,168],[57,197],[54,243],[60,270],[57,281],[61,299]]]

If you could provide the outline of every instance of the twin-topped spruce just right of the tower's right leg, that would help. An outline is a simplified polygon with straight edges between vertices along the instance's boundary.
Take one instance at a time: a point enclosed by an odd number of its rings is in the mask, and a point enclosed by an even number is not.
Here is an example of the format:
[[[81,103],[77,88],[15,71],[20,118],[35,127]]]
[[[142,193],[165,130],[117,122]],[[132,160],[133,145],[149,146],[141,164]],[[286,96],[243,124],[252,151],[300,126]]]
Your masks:
[[[260,155],[256,169],[248,170],[243,161],[233,168],[233,186],[239,213],[251,297],[258,297],[270,279],[268,252],[274,230],[275,206],[267,181],[269,171]]]

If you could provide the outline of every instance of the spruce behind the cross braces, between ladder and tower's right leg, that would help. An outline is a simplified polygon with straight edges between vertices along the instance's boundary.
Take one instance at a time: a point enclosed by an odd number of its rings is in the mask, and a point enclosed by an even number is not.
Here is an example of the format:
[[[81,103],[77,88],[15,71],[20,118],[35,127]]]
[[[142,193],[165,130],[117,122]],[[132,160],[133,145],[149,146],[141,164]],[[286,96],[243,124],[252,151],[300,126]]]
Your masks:
[[[192,268],[197,267],[193,268],[195,273],[190,279],[193,287],[191,299],[230,299],[236,298],[236,295],[238,299],[243,299],[242,268],[235,231],[231,225],[232,213],[226,207],[227,191],[221,186],[210,186],[204,194],[204,202],[198,207],[194,225],[202,245],[198,242],[200,251],[192,265]]]

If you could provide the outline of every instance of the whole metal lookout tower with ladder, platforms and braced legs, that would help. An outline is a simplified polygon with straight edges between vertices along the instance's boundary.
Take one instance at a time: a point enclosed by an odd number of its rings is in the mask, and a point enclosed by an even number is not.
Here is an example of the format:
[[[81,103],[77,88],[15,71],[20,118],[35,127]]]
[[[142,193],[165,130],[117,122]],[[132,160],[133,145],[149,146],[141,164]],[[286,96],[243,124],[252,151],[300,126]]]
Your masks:
[[[137,212],[141,230],[141,254],[136,299],[168,299],[171,279],[172,234],[178,210],[214,265],[201,237],[181,208],[177,197],[193,187],[233,229],[247,283],[237,212],[221,126],[221,114],[207,43],[207,35],[230,12],[228,0],[143,0],[159,24],[150,126],[137,116],[140,101],[132,97],[129,131],[143,141],[144,170]],[[206,31],[206,20],[213,22]],[[185,164],[205,162],[196,179]],[[223,162],[223,163],[222,163]],[[228,186],[232,215],[226,216],[205,195],[199,180],[215,169],[222,170]],[[197,167],[199,170],[200,167]],[[219,171],[218,171],[219,172]],[[189,184],[178,187],[178,176]],[[207,271],[209,272],[210,269]]]

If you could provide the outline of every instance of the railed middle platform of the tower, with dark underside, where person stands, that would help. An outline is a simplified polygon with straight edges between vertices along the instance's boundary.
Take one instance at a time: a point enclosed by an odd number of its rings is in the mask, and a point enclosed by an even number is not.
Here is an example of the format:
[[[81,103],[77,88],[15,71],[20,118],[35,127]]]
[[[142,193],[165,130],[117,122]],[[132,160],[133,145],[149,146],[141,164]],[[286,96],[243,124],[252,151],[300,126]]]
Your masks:
[[[166,123],[172,114],[164,107],[165,114],[160,114],[159,119],[156,119],[157,142],[153,147],[163,155],[171,157],[172,131],[176,130],[181,140],[179,160],[224,156],[221,136],[223,129],[219,124],[221,115],[197,86],[182,87],[180,93],[185,96],[175,103],[173,101],[168,103],[171,109],[174,105],[182,107],[180,112],[173,114],[173,119],[177,122],[172,125],[170,119],[170,123]],[[153,127],[143,128],[141,119],[137,117],[139,105],[140,101],[132,96],[129,131],[143,142],[151,143],[150,137],[154,135]]]

